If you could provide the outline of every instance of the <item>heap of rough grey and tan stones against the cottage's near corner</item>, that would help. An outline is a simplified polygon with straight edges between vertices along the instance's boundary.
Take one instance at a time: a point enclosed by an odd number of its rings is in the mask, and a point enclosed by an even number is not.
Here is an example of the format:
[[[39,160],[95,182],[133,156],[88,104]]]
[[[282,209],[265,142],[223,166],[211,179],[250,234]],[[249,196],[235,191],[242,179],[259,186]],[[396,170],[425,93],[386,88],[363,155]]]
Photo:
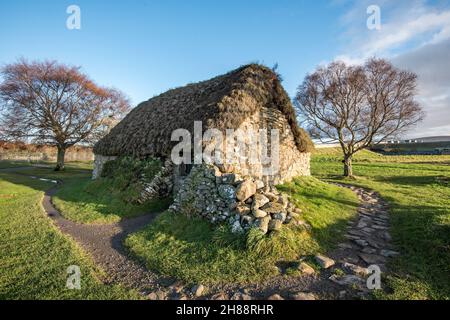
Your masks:
[[[288,223],[309,227],[287,195],[261,180],[241,177],[233,169],[231,165],[194,166],[170,210],[212,223],[227,221],[236,233],[258,228],[266,234]]]

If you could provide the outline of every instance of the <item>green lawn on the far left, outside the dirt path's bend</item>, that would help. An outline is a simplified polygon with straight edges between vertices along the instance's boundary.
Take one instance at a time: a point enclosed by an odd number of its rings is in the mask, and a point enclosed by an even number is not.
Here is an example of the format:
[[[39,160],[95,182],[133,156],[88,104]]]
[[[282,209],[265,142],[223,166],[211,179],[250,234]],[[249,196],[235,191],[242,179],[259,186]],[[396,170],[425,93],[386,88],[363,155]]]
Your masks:
[[[51,185],[0,172],[0,299],[135,299],[137,293],[99,281],[77,245],[45,216]],[[66,288],[67,267],[81,269],[81,290]]]

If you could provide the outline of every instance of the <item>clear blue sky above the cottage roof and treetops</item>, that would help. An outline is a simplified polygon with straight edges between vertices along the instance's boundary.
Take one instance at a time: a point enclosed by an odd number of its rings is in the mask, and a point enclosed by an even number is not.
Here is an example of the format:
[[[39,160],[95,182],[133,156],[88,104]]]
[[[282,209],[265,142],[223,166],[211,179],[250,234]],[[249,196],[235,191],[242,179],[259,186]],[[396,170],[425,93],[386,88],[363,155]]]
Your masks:
[[[71,4],[81,8],[81,30],[66,28]],[[366,27],[369,4],[381,8],[381,31]],[[443,59],[450,53],[450,3],[2,1],[0,38],[0,64],[25,57],[80,65],[99,84],[124,91],[133,104],[249,62],[278,63],[293,96],[307,72],[336,58],[359,63],[377,55],[429,73],[424,49],[436,54],[430,46],[439,47]],[[420,54],[425,58],[417,60]],[[450,134],[448,62],[434,67],[443,75],[428,74],[420,96],[431,120],[413,135]],[[430,81],[442,89],[436,91]]]

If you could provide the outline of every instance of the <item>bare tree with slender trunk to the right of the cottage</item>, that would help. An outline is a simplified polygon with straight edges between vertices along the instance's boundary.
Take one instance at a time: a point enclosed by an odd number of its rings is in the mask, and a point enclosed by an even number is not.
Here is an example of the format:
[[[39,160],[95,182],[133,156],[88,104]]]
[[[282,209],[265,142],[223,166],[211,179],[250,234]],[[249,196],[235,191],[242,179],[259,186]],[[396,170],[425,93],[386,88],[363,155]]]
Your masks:
[[[352,176],[353,155],[398,135],[423,118],[414,100],[417,76],[383,59],[363,66],[333,62],[307,75],[294,104],[310,134],[339,142],[344,176]]]

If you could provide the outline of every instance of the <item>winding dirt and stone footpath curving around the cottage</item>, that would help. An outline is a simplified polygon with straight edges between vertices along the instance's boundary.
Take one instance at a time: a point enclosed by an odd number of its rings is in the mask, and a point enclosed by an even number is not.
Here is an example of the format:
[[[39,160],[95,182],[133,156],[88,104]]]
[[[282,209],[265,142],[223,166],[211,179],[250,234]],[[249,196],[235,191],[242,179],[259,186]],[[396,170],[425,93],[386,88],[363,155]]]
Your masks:
[[[1,169],[2,171],[13,170]],[[30,177],[30,176],[29,176]],[[36,178],[36,177],[30,177]],[[43,207],[46,214],[65,234],[71,236],[93,261],[106,273],[102,281],[120,283],[135,289],[148,299],[360,299],[370,294],[366,278],[368,267],[376,265],[386,272],[388,259],[398,255],[390,244],[387,203],[373,191],[340,185],[355,192],[361,202],[358,216],[349,222],[346,241],[327,257],[316,257],[322,266],[320,272],[312,269],[301,276],[285,276],[287,267],[279,266],[280,275],[259,284],[242,288],[236,285],[209,287],[201,292],[187,288],[176,279],[166,278],[149,271],[143,263],[127,254],[123,245],[125,238],[152,222],[158,213],[123,219],[119,223],[103,225],[80,224],[65,219],[52,203],[58,182],[45,192]],[[301,264],[303,265],[303,264]]]

